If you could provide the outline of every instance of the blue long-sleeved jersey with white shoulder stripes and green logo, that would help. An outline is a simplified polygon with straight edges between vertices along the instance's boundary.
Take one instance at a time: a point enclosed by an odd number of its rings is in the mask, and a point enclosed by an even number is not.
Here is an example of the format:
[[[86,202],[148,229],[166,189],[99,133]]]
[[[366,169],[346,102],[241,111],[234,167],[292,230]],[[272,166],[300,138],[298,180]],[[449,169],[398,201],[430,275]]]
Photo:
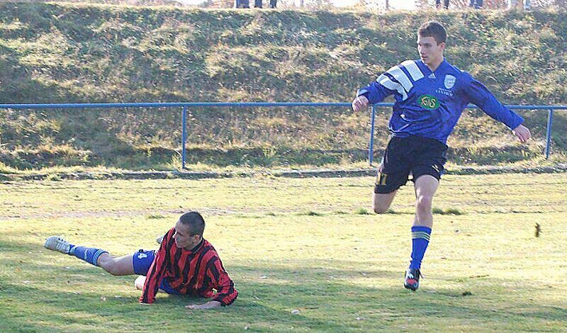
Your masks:
[[[395,104],[388,130],[396,137],[417,135],[445,143],[468,103],[510,129],[524,121],[503,106],[481,82],[446,60],[434,72],[421,60],[402,62],[359,89],[357,96],[364,95],[370,103],[380,103],[391,94]]]

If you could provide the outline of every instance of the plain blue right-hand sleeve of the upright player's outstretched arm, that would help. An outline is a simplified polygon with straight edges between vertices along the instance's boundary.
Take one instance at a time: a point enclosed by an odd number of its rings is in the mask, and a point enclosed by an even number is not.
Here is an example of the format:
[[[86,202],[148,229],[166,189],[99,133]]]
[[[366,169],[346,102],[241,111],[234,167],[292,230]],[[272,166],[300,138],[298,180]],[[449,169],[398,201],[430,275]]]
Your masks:
[[[503,106],[481,82],[471,78],[464,92],[471,103],[481,108],[491,118],[506,125],[510,130],[524,122],[524,118]]]

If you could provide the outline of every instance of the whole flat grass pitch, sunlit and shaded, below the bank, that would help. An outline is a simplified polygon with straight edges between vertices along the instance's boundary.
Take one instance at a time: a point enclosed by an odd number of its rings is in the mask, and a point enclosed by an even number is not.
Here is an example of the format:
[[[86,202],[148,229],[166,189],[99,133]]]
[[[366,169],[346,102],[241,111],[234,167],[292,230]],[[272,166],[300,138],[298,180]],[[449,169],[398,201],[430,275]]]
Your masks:
[[[566,329],[566,174],[446,176],[417,293],[402,286],[412,188],[400,191],[391,213],[375,215],[373,182],[2,184],[0,331]],[[240,292],[230,307],[188,311],[183,305],[204,301],[162,294],[140,305],[133,276],[43,249],[49,235],[117,255],[152,249],[186,210],[205,216],[205,237]]]

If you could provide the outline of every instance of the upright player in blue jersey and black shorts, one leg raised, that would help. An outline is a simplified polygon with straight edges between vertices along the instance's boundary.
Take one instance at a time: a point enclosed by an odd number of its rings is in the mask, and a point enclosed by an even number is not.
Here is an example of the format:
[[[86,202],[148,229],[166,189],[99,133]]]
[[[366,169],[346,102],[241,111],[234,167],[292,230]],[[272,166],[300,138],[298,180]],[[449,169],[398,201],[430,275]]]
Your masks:
[[[386,147],[374,188],[374,211],[385,213],[395,193],[408,181],[415,185],[412,254],[405,272],[405,288],[416,290],[420,268],[433,225],[432,199],[443,174],[447,137],[468,103],[504,123],[520,142],[529,140],[524,119],[502,105],[483,84],[449,64],[443,57],[447,33],[438,22],[424,23],[417,31],[420,60],[407,60],[388,69],[369,86],[359,89],[354,111],[394,95]]]

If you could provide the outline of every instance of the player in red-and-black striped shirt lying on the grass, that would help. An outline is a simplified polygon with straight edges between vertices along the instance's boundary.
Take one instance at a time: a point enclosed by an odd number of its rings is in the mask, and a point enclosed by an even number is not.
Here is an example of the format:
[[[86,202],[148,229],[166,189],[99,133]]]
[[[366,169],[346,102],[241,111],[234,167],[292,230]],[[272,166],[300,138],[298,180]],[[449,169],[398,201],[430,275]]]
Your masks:
[[[78,247],[56,236],[48,237],[44,246],[101,266],[115,276],[140,275],[134,283],[143,290],[140,303],[153,303],[159,290],[213,298],[201,305],[186,306],[191,309],[230,305],[238,293],[215,248],[203,238],[203,230],[205,220],[201,214],[189,212],[181,215],[175,227],[164,235],[157,251],[140,249],[134,254],[115,257],[103,249]]]

